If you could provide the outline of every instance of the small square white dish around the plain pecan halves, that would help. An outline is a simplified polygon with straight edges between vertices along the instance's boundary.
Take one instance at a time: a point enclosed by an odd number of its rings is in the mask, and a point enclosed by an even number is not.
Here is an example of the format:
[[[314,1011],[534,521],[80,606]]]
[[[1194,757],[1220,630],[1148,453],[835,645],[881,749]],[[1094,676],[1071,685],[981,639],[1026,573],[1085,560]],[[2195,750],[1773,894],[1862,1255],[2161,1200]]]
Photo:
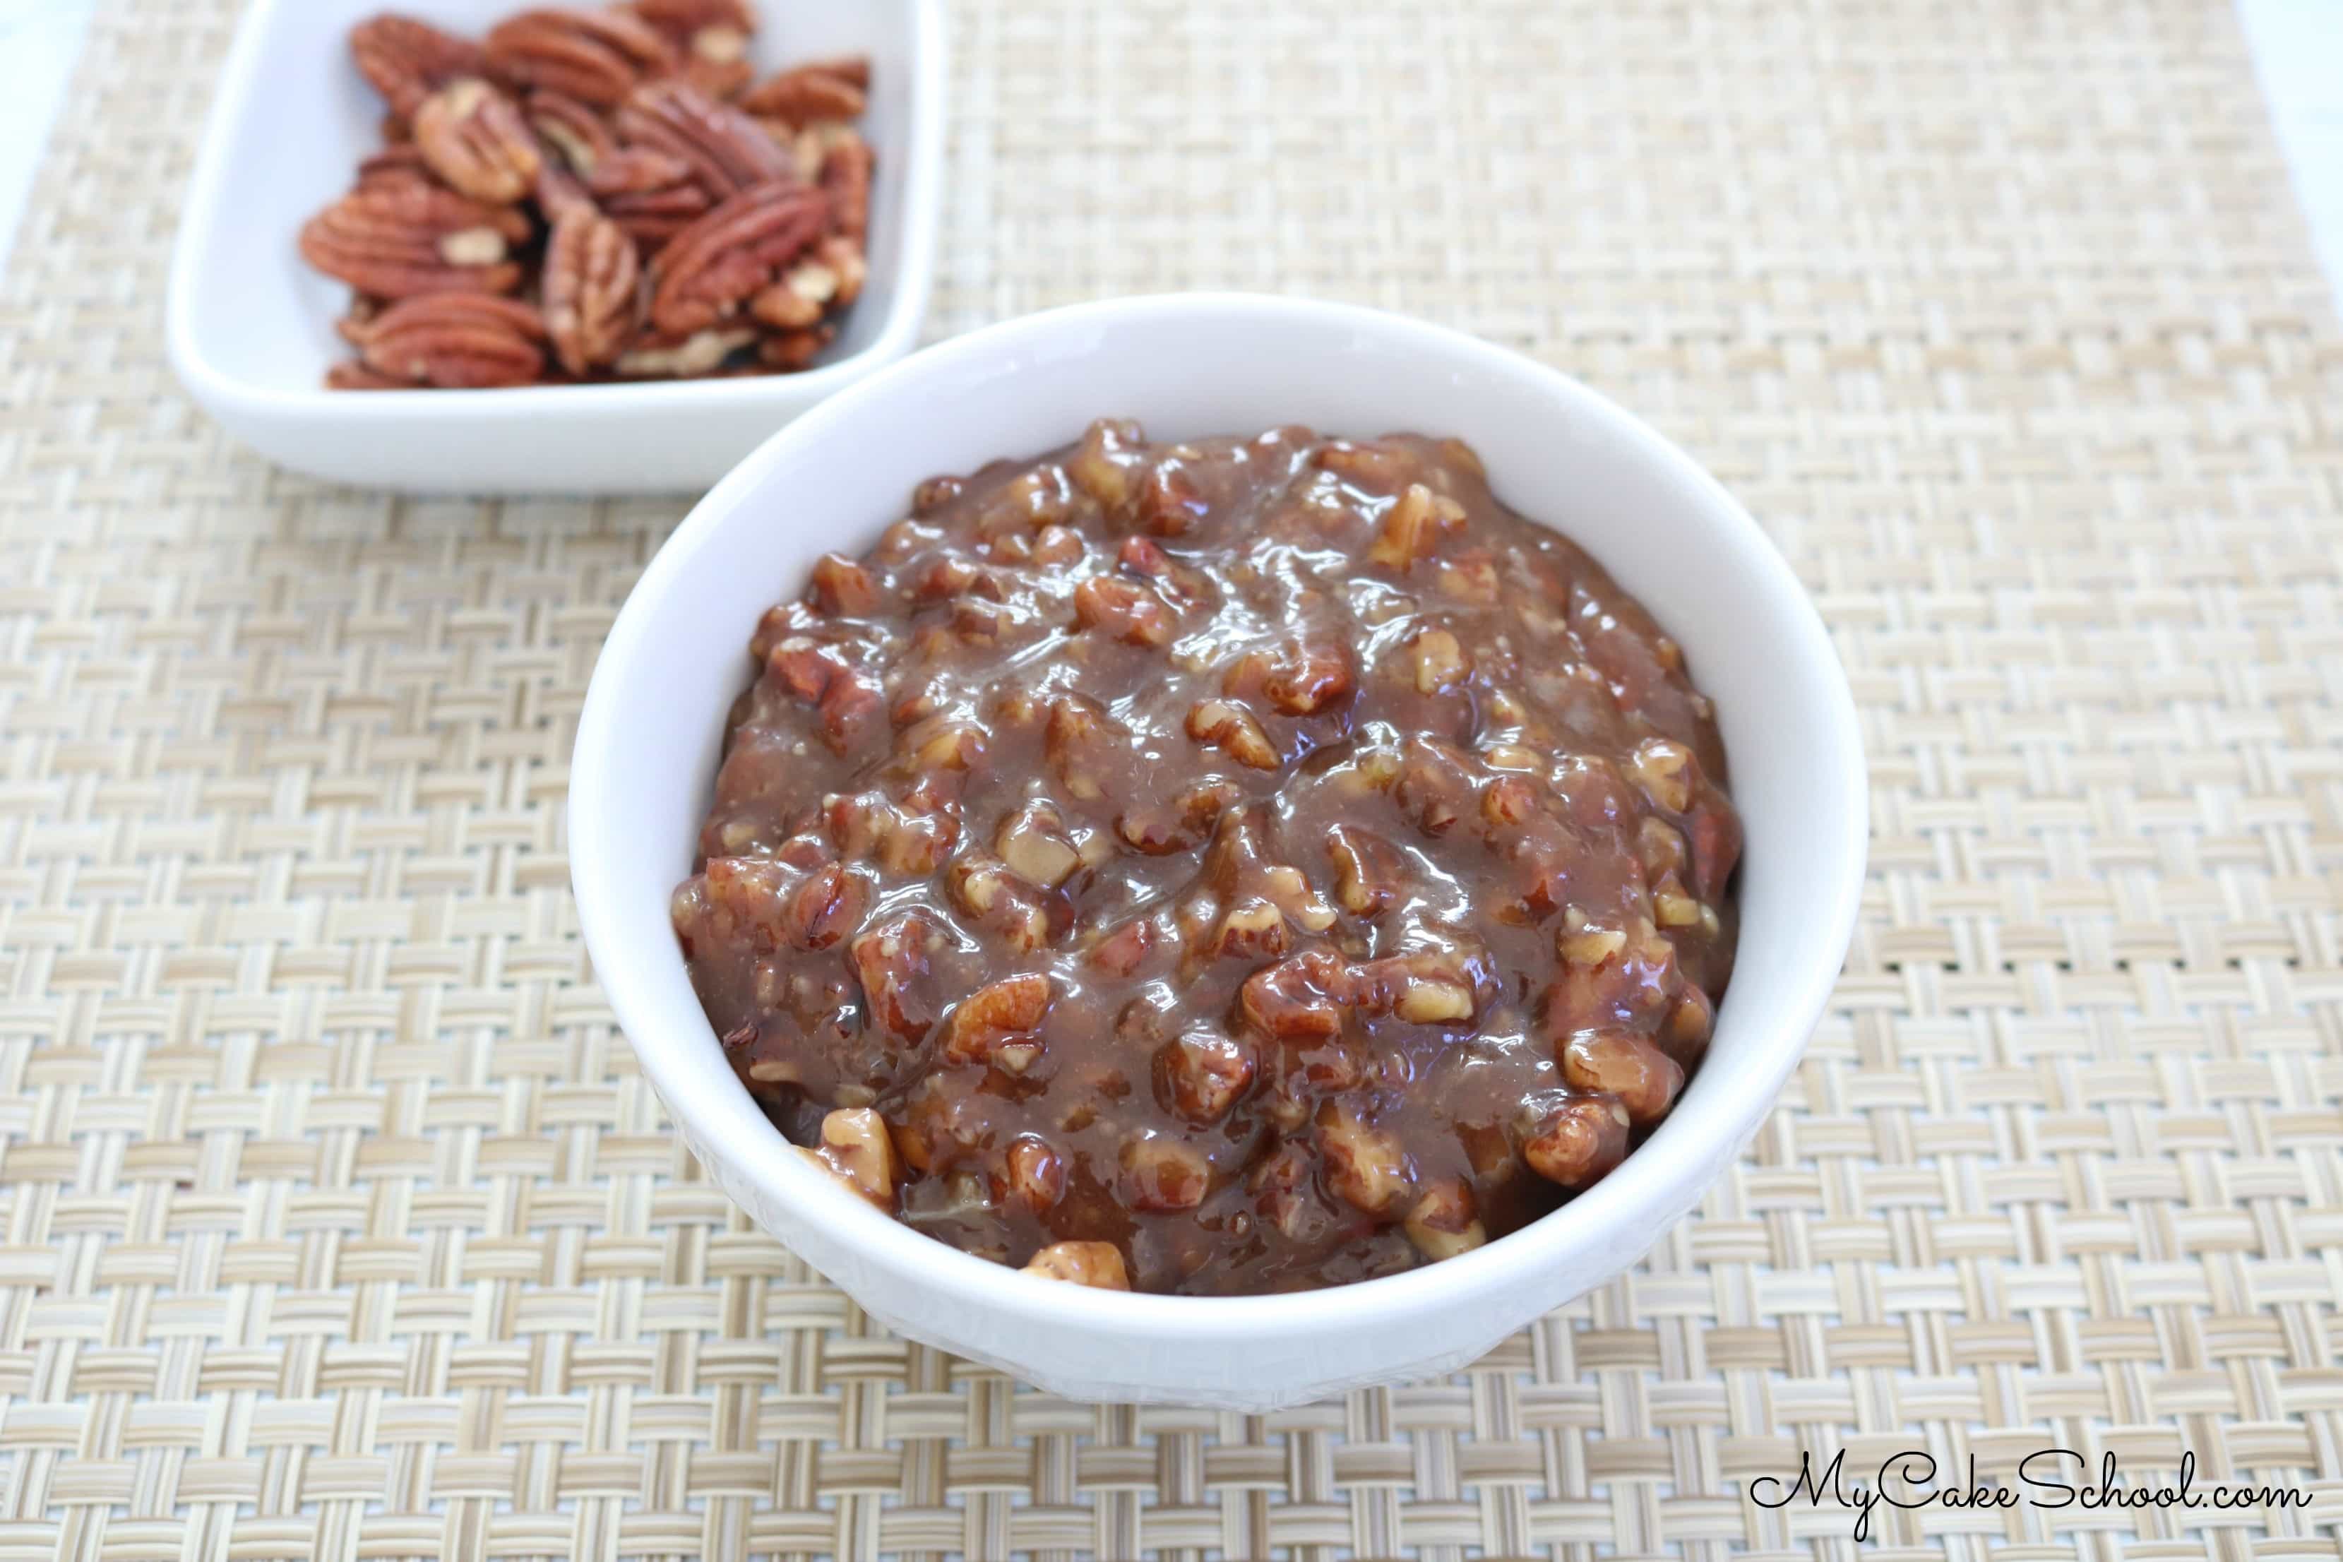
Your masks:
[[[394,0],[471,37],[525,5]],[[328,391],[326,368],[349,356],[333,333],[349,288],[312,272],[295,241],[382,143],[382,101],[347,44],[351,23],[380,9],[384,0],[255,0],[194,159],[171,255],[171,368],[260,454],[319,478],[417,492],[701,489],[918,340],[942,187],[942,0],[764,0],[759,70],[872,59],[869,281],[815,368],[675,384]]]

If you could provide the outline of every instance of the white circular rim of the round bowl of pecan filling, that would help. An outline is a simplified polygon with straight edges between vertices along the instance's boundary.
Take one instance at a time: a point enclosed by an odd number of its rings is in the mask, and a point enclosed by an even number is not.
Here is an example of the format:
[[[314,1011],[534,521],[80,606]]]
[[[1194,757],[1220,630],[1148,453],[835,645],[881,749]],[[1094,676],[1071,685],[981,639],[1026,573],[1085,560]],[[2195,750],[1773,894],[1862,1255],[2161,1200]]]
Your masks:
[[[1673,1220],[1713,1180],[1713,1166],[1703,1166],[1701,1157],[1715,1155],[1715,1145],[1729,1145],[1729,1155],[1739,1155],[1774,1110],[1774,1098],[1804,1051],[1813,1023],[1821,1019],[1837,984],[1860,909],[1870,838],[1870,785],[1853,693],[1821,614],[1788,560],[1783,560],[1748,511],[1689,454],[1635,415],[1556,368],[1410,316],[1359,304],[1261,293],[1162,293],[1068,304],[1000,321],[928,347],[832,396],[773,433],[726,473],[668,536],[628,592],[595,660],[579,714],[567,808],[572,888],[588,953],[595,946],[609,951],[623,948],[614,925],[619,916],[619,885],[612,878],[616,869],[602,845],[604,824],[616,824],[616,820],[609,820],[604,759],[619,752],[619,740],[623,738],[619,728],[619,677],[609,670],[626,667],[654,653],[649,642],[651,607],[647,604],[675,590],[694,560],[715,543],[724,520],[743,501],[764,489],[797,450],[818,445],[829,436],[832,426],[862,415],[869,405],[916,389],[930,375],[1000,358],[1005,356],[1003,349],[1029,340],[1059,337],[1092,326],[1200,316],[1211,316],[1216,326],[1249,318],[1268,321],[1275,316],[1310,321],[1333,330],[1371,333],[1392,347],[1420,349],[1446,361],[1462,361],[1492,375],[1537,384],[1542,391],[1556,393],[1567,403],[1574,417],[1591,419],[1603,426],[1607,438],[1631,445],[1633,459],[1657,464],[1687,485],[1687,492],[1699,499],[1701,508],[1717,525],[1720,546],[1736,555],[1736,569],[1746,569],[1755,585],[1785,604],[1795,644],[1783,649],[1795,653],[1797,663],[1825,667],[1830,674],[1818,681],[1818,698],[1828,707],[1821,714],[1830,728],[1832,752],[1821,754],[1818,766],[1837,780],[1849,806],[1832,836],[1835,862],[1818,864],[1818,883],[1813,888],[1818,920],[1809,944],[1811,955],[1804,970],[1797,972],[1792,993],[1764,1021],[1764,1047],[1743,1063],[1743,1089],[1713,1091],[1696,1096],[1696,1101],[1687,1098],[1654,1129],[1645,1145],[1591,1190],[1518,1232],[1509,1232],[1471,1253],[1436,1265],[1420,1265],[1401,1274],[1340,1288],[1272,1295],[1186,1297],[1113,1293],[1061,1281],[1038,1281],[1005,1265],[975,1258],[902,1225],[893,1215],[841,1190],[832,1178],[806,1164],[804,1157],[792,1155],[790,1143],[769,1124],[738,1080],[726,1075],[703,1082],[686,1070],[670,1068],[670,1051],[661,1044],[661,1037],[672,1030],[675,1019],[668,1005],[647,991],[647,981],[640,974],[640,958],[609,965],[595,962],[604,1000],[635,1047],[644,1075],[694,1145],[708,1145],[715,1157],[729,1164],[729,1171],[761,1185],[761,1192],[799,1211],[825,1236],[853,1248],[876,1272],[900,1283],[949,1293],[965,1307],[1003,1309],[1038,1325],[1080,1328],[1087,1335],[1146,1337],[1157,1344],[1162,1340],[1303,1340],[1321,1333],[1336,1307],[1343,1309],[1347,1321],[1366,1316],[1389,1321],[1427,1307],[1455,1304],[1464,1295],[1497,1290],[1509,1281],[1530,1281],[1528,1272],[1553,1272],[1572,1253],[1612,1248],[1645,1253],[1666,1229],[1666,1225],[1652,1222],[1652,1215],[1666,1211],[1666,1218]],[[1469,429],[1460,429],[1457,433],[1471,438]],[[1821,881],[1823,871],[1830,874],[1828,881]],[[705,1026],[705,1016],[696,1014],[694,1023]],[[644,1040],[637,1042],[637,1037]],[[1661,1143],[1668,1150],[1654,1155],[1654,1147]],[[1717,1164],[1722,1159],[1727,1157],[1717,1157]],[[1696,1185],[1685,1187],[1685,1178],[1696,1178]]]

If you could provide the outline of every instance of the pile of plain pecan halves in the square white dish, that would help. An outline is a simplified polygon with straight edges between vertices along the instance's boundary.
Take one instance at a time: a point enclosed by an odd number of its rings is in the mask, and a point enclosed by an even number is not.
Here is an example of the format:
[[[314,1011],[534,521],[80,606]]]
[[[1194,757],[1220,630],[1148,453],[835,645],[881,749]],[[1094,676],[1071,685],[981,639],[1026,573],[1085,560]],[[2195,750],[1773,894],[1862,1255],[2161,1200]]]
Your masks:
[[[375,16],[384,148],[302,227],[354,290],[337,389],[806,368],[867,276],[860,59],[754,80],[747,0]]]

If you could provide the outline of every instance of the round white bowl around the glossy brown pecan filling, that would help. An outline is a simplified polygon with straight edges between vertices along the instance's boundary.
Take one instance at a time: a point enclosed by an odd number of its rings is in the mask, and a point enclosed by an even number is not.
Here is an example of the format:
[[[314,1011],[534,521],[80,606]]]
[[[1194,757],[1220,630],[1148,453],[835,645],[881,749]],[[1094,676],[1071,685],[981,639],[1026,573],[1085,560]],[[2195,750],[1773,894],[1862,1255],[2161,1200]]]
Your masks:
[[[1610,1178],[1462,1258],[1340,1290],[1160,1297],[1017,1274],[888,1220],[787,1150],[724,1063],[668,925],[691,874],[757,616],[825,548],[860,550],[911,485],[1038,454],[1092,417],[1153,438],[1310,424],[1481,452],[1500,499],[1584,543],[1715,698],[1748,829],[1741,955],[1675,1112]],[[710,1176],[890,1328],[1075,1398],[1270,1410],[1453,1370],[1621,1272],[1764,1119],[1837,977],[1863,888],[1846,677],[1781,555],[1715,480],[1586,386],[1418,321],[1176,295],[993,326],[780,431],[684,520],[612,628],[569,777],[586,946]]]

